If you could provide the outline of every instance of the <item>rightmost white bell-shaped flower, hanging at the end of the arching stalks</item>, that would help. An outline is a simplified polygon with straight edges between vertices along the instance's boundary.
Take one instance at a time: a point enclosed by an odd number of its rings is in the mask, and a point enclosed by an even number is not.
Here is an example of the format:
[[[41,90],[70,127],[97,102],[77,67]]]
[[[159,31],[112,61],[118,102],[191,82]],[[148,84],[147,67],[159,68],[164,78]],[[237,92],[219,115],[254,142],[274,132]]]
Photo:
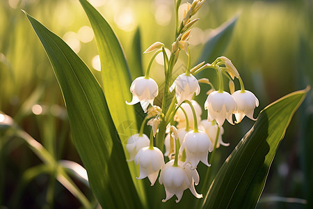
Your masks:
[[[236,101],[237,109],[234,111],[234,115],[236,117],[236,123],[240,123],[244,116],[247,116],[251,120],[255,121],[253,118],[253,112],[255,111],[255,107],[259,106],[259,100],[257,97],[250,91],[241,92],[235,91],[232,94],[232,97]]]

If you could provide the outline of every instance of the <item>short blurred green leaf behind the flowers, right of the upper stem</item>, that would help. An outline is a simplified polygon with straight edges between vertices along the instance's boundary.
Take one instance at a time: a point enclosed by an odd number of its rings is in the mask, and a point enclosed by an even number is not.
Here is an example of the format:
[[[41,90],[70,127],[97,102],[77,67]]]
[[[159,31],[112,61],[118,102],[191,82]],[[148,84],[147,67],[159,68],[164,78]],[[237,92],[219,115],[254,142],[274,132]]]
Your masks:
[[[207,61],[213,62],[218,56],[223,56],[223,52],[227,48],[230,38],[232,38],[232,31],[238,20],[238,15],[232,17],[217,29],[211,32],[209,40],[205,43],[198,63]]]

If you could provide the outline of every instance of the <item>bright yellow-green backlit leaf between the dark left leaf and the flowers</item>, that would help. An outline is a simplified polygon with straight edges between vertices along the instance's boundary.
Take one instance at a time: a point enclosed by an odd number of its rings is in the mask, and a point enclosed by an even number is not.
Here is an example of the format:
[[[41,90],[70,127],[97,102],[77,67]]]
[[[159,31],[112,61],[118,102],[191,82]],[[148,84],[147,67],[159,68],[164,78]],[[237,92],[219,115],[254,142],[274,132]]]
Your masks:
[[[101,61],[101,71],[104,86],[104,95],[115,124],[120,140],[122,141],[125,153],[127,139],[137,133],[137,116],[142,116],[143,111],[134,106],[127,105],[125,101],[131,101],[131,75],[125,59],[124,52],[118,38],[111,29],[104,17],[91,6],[86,0],[79,0],[85,10],[97,40],[97,47]],[[142,118],[143,119],[143,118]],[[141,201],[145,201],[145,192],[143,182],[136,180],[138,169],[136,170],[134,162],[129,162],[129,170],[136,189],[140,194]]]

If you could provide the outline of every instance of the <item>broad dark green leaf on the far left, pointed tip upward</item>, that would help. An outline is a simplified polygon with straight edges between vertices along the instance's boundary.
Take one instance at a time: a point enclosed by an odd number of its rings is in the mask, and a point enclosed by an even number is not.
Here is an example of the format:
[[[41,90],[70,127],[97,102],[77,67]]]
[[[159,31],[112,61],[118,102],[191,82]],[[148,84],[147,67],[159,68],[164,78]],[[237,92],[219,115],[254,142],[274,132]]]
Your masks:
[[[141,208],[102,88],[61,38],[26,16],[61,86],[74,144],[97,200],[103,208]]]

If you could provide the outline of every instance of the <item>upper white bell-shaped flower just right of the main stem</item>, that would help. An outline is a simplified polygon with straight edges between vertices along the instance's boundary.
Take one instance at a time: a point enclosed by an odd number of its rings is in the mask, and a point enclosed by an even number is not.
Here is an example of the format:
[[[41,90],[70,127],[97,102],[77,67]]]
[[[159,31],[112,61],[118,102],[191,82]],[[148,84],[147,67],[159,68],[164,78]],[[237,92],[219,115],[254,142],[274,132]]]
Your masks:
[[[185,73],[179,75],[175,82],[170,86],[170,92],[175,88],[177,103],[181,104],[184,100],[193,98],[193,94],[200,93],[200,86],[198,80],[193,75],[186,75]]]

